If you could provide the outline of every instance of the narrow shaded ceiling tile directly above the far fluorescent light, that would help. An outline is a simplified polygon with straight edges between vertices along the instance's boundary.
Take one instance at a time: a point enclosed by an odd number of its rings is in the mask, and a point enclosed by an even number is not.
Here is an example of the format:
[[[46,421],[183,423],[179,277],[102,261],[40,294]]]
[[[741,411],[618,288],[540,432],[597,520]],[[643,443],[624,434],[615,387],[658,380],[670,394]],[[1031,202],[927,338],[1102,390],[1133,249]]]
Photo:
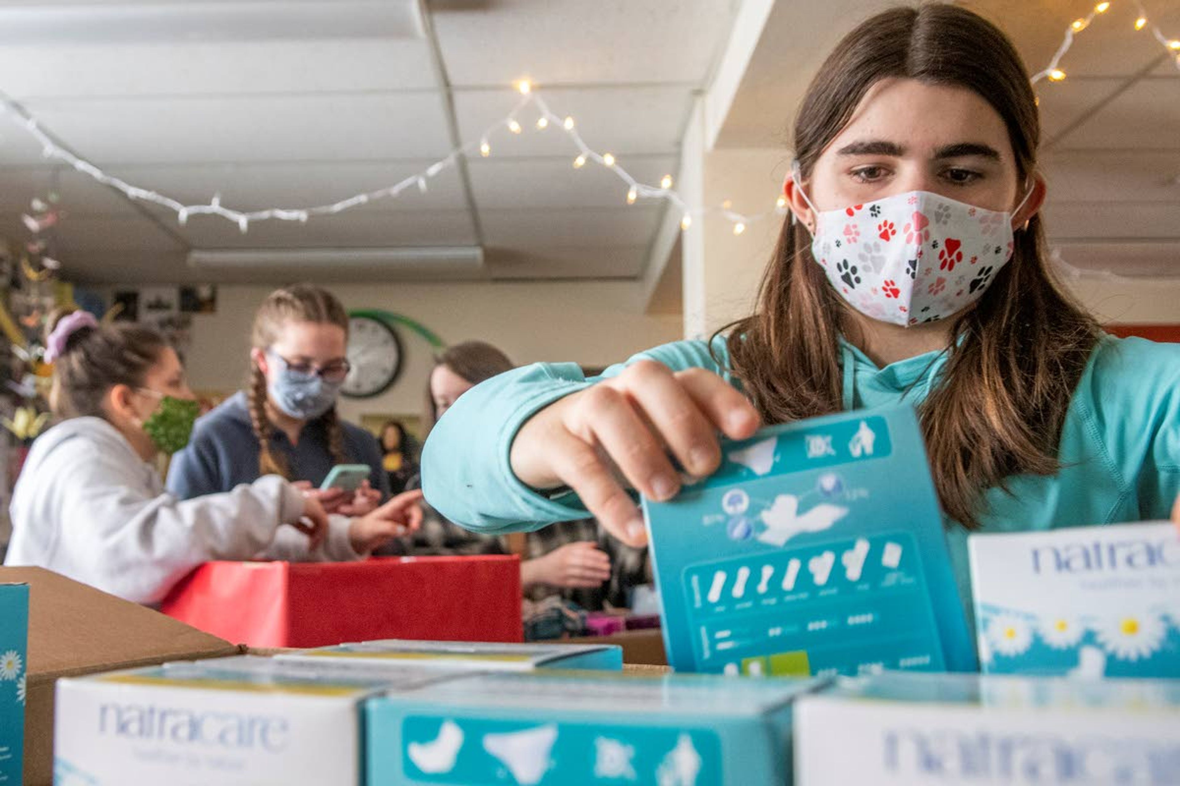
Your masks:
[[[199,249],[366,247],[407,245],[472,245],[476,229],[466,211],[350,210],[299,222],[266,220],[238,226],[212,216],[194,216],[177,229]]]

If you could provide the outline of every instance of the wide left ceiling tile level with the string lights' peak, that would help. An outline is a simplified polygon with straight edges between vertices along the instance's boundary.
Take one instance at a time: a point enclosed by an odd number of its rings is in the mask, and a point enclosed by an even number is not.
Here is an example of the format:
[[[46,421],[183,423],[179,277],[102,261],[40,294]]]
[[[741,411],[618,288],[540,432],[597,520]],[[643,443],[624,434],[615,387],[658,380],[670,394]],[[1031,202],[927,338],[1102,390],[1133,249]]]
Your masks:
[[[28,108],[96,163],[441,158],[432,93],[35,101]]]

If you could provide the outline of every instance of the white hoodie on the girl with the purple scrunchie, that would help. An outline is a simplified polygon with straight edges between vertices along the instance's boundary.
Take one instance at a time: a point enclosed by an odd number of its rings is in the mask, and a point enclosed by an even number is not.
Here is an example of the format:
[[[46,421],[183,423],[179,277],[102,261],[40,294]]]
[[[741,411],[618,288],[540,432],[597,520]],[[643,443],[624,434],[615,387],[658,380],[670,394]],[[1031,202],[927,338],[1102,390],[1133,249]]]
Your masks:
[[[119,431],[98,417],[65,421],[37,440],[13,491],[5,564],[48,568],[139,603],[157,603],[208,560],[360,559],[349,520],[330,516],[315,551],[282,524],[303,495],[277,476],[184,502],[164,491]]]

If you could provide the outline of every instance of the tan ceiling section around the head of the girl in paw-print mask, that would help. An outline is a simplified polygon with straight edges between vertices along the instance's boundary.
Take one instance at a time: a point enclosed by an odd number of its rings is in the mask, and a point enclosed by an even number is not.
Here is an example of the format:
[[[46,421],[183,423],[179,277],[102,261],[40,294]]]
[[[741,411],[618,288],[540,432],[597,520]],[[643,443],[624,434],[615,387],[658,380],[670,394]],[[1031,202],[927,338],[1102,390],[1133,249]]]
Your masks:
[[[719,137],[722,147],[787,147],[793,114],[826,53],[892,2],[779,2]],[[1095,0],[972,0],[1012,38],[1031,72],[1044,68],[1069,22]],[[1074,40],[1067,78],[1037,84],[1050,244],[1069,265],[1119,276],[1180,276],[1180,68],[1138,5],[1115,0]],[[1180,2],[1141,0],[1180,38]]]

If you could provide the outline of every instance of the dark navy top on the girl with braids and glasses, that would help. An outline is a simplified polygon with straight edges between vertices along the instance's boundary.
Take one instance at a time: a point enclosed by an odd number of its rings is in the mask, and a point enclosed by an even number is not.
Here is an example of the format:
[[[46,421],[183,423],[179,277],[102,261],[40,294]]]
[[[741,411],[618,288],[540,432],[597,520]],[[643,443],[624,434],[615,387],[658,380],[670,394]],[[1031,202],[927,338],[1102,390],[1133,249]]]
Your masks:
[[[368,464],[369,483],[389,496],[389,478],[381,465],[376,437],[340,422],[343,431],[345,463]],[[328,434],[322,418],[307,423],[299,444],[291,444],[277,428],[270,434],[270,449],[286,456],[290,480],[310,481],[319,487],[335,465],[328,448]],[[238,391],[208,415],[197,420],[189,445],[172,456],[168,471],[168,490],[182,500],[205,494],[229,491],[242,483],[258,480],[258,440],[250,425],[245,394]]]

